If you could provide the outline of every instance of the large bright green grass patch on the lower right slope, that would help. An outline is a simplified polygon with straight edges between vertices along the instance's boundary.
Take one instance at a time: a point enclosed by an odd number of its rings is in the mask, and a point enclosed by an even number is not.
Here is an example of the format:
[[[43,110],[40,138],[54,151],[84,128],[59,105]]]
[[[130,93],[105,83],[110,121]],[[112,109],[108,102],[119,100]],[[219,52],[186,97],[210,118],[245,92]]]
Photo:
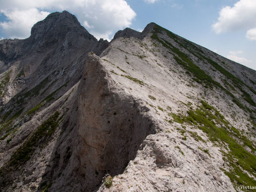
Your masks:
[[[230,126],[229,122],[214,107],[204,101],[202,104],[196,110],[188,111],[188,116],[193,118],[198,124],[197,127],[207,134],[210,141],[220,147],[223,147],[223,144],[227,145],[230,149],[228,153],[222,151],[230,165],[230,170],[226,170],[225,174],[229,176],[234,185],[256,186],[256,181],[245,174],[247,171],[253,177],[256,176],[256,156],[245,150],[245,146],[248,146],[255,151],[255,146],[241,135],[239,130]]]

